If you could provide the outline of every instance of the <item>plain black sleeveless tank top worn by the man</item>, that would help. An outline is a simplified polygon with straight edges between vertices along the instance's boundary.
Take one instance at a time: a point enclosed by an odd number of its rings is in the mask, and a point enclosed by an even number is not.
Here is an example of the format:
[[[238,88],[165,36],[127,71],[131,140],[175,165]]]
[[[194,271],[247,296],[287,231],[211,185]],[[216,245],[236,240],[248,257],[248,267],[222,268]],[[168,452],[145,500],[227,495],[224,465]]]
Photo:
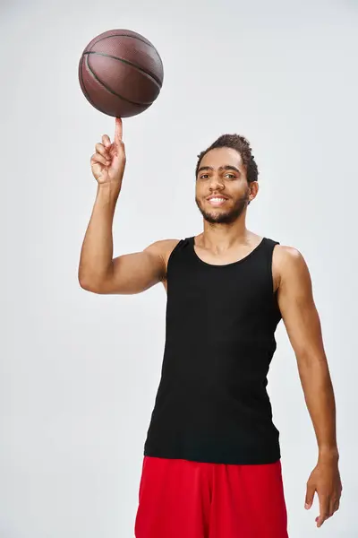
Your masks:
[[[221,464],[280,458],[266,386],[281,319],[272,253],[210,265],[182,239],[167,264],[166,345],[145,456]]]

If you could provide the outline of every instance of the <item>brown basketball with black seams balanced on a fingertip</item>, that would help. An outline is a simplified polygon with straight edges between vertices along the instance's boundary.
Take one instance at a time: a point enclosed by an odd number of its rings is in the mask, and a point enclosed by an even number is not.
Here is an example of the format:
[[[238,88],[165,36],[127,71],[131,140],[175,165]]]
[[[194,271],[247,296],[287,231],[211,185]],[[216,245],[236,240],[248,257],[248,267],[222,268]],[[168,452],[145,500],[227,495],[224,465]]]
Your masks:
[[[131,30],[108,30],[84,49],[79,78],[90,104],[114,117],[140,114],[157,99],[163,63],[156,48]]]

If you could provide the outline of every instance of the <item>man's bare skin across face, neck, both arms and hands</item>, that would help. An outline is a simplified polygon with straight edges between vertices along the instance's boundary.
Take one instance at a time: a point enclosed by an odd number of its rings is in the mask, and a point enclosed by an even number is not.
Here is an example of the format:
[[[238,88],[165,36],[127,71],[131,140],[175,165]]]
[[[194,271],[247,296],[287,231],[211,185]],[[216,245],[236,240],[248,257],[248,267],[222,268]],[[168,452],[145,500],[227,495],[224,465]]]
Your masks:
[[[125,169],[121,119],[115,119],[114,142],[104,134],[90,164],[98,192],[81,248],[81,287],[100,294],[135,294],[162,282],[166,289],[167,261],[178,239],[156,241],[141,252],[113,258],[113,219]],[[262,238],[247,230],[245,223],[248,202],[258,192],[258,182],[248,183],[241,155],[235,150],[219,148],[203,157],[195,190],[195,202],[203,215],[203,231],[195,238],[195,251],[202,260],[226,265],[247,256],[259,245]],[[227,200],[214,207],[209,204],[209,195],[225,195]],[[316,525],[320,527],[339,508],[342,493],[335,396],[311,275],[303,255],[294,247],[277,245],[272,273],[318,443],[318,461],[306,483],[305,508],[311,508],[317,493],[320,514]]]

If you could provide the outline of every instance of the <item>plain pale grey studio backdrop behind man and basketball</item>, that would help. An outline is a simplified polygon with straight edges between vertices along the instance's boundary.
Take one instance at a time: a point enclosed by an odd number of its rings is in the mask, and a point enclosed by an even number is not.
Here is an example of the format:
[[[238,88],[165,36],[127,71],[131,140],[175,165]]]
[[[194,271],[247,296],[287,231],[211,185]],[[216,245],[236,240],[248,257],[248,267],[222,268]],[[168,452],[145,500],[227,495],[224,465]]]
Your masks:
[[[248,137],[260,193],[247,226],[305,257],[337,399],[344,491],[341,508],[317,529],[317,496],[303,508],[317,444],[281,322],[268,394],[281,434],[289,535],[354,538],[354,0],[2,0],[0,536],[134,534],[166,293],[158,285],[98,296],[77,280],[97,190],[90,156],[115,128],[82,95],[77,68],[90,39],[111,29],[146,36],[165,66],[158,100],[124,120],[115,256],[200,233],[196,157],[220,134]]]

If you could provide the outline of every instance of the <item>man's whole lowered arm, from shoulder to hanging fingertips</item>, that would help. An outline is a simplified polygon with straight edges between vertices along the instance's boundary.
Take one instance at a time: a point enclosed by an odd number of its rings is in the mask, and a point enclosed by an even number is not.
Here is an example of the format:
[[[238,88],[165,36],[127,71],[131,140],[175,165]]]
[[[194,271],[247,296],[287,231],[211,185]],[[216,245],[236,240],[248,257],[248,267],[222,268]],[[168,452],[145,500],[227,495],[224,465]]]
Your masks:
[[[316,522],[320,527],[339,508],[342,492],[335,396],[309,269],[302,254],[293,247],[277,247],[274,259],[280,276],[278,306],[294,349],[304,399],[319,448],[318,463],[307,482],[305,508],[311,508],[317,491],[320,516]]]

